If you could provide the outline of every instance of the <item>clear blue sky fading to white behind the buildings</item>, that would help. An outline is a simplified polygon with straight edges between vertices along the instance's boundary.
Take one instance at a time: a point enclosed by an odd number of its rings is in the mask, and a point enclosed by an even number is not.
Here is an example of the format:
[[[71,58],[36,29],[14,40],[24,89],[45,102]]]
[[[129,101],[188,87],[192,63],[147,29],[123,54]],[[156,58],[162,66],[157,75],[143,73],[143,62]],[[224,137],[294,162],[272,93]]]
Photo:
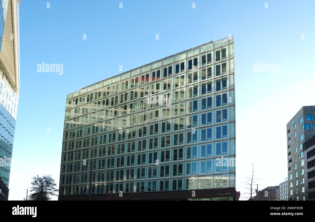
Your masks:
[[[234,36],[236,189],[244,192],[250,162],[260,189],[278,185],[287,177],[286,124],[302,106],[315,105],[314,6],[267,0],[22,0],[13,158],[25,158],[25,167],[11,168],[9,200],[23,200],[37,174],[51,174],[59,183],[67,94],[121,73],[119,65],[128,71],[209,42],[211,35],[214,41]],[[62,63],[63,75],[37,73],[42,62]],[[254,73],[258,62],[279,64],[279,74]]]

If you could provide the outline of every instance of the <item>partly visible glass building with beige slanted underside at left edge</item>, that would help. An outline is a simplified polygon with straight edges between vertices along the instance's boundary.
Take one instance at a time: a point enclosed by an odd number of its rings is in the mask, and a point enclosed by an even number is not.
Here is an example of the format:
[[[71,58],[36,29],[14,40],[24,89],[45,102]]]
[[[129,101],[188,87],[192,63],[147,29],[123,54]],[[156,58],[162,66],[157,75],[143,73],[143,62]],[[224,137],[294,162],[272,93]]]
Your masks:
[[[20,89],[19,1],[1,0],[0,9],[0,199],[8,199],[10,164]]]

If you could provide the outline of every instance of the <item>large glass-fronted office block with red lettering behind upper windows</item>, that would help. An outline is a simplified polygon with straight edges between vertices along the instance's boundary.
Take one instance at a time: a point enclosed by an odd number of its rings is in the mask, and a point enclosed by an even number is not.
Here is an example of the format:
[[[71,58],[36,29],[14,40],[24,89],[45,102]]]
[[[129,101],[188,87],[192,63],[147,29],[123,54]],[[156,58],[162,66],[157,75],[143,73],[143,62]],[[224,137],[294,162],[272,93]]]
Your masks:
[[[67,95],[59,200],[235,199],[233,44],[211,41]]]

